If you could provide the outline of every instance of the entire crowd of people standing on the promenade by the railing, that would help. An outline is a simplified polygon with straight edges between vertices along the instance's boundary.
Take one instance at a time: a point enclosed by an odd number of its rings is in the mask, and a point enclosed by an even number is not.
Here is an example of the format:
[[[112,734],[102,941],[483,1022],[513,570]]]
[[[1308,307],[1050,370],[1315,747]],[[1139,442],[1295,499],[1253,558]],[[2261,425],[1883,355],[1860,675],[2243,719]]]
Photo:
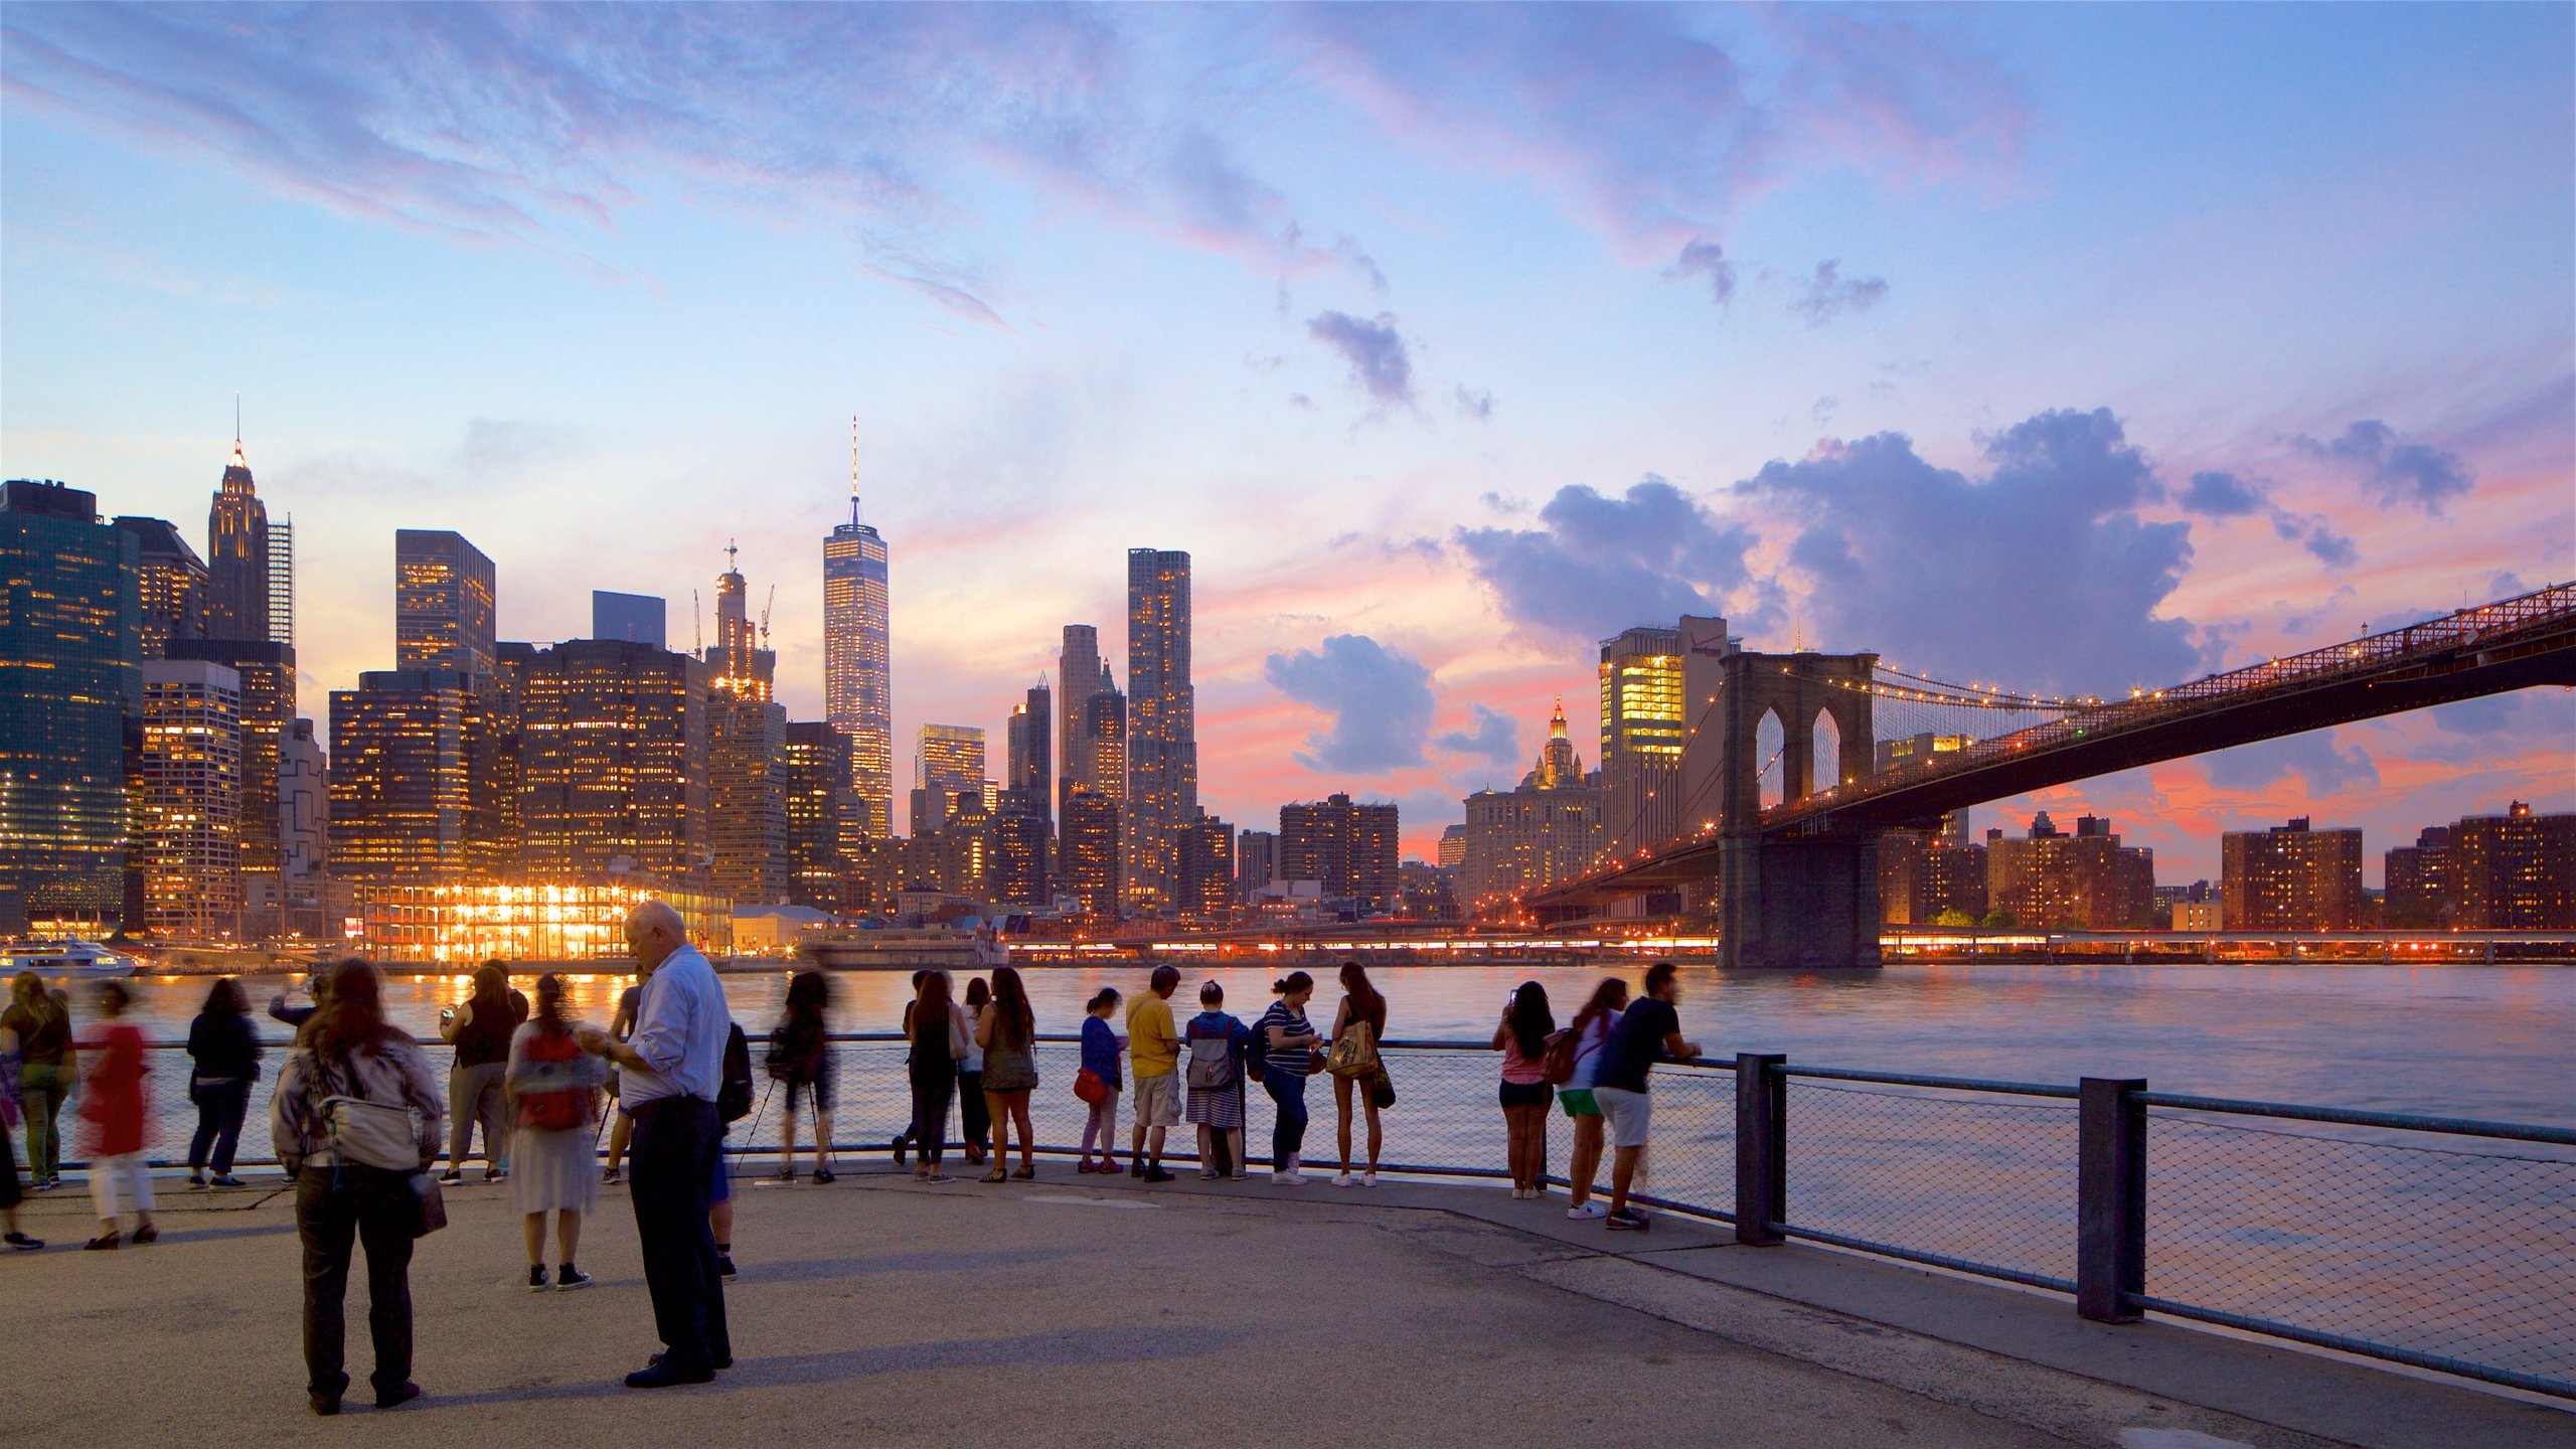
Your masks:
[[[577,1266],[582,1220],[603,1183],[631,1173],[636,1240],[662,1338],[662,1351],[626,1377],[631,1387],[708,1382],[732,1366],[724,1281],[734,1276],[734,1212],[724,1134],[750,1111],[750,1047],[714,967],[688,946],[677,913],[641,902],[626,920],[626,941],[639,982],[623,993],[605,1029],[567,1016],[559,977],[538,977],[531,1006],[510,987],[502,962],[484,964],[471,995],[440,1013],[438,1034],[453,1047],[446,1083],[420,1042],[386,1021],[381,975],[363,959],[314,972],[309,1006],[270,1003],[273,1018],[296,1026],[270,1093],[270,1140],[296,1194],[314,1413],[337,1413],[350,1385],[343,1305],[361,1248],[376,1405],[420,1395],[410,1377],[412,1243],[443,1225],[440,1186],[464,1181],[477,1129],[484,1181],[510,1183],[510,1201],[523,1214],[528,1289],[564,1292],[592,1281]],[[1224,985],[1213,980],[1198,987],[1198,1016],[1177,1024],[1170,1000],[1180,982],[1180,969],[1162,964],[1133,1000],[1103,987],[1087,1003],[1072,1083],[1087,1106],[1074,1171],[1175,1181],[1177,1173],[1164,1165],[1167,1132],[1190,1124],[1198,1176],[1244,1181],[1244,1104],[1249,1083],[1260,1083],[1275,1106],[1270,1181],[1298,1186],[1306,1181],[1306,1088],[1321,1073],[1332,1078],[1337,1114],[1332,1181],[1376,1186],[1381,1111],[1394,1106],[1394,1085],[1381,1055],[1388,1008],[1368,969],[1342,964],[1342,995],[1327,1031],[1316,1031],[1309,1016],[1316,990],[1309,972],[1275,980],[1275,1000],[1249,1026],[1226,1011]],[[1649,1140],[1651,1067],[1700,1052],[1680,1031],[1677,1000],[1669,962],[1646,972],[1636,1000],[1625,980],[1605,977],[1564,1026],[1540,982],[1512,990],[1492,1047],[1502,1055],[1497,1101],[1515,1199],[1543,1196],[1548,1116],[1561,1109],[1574,1127],[1566,1217],[1600,1217],[1610,1230],[1649,1227],[1631,1191]],[[100,1222],[85,1245],[113,1250],[157,1238],[144,1171],[149,1044],[124,1021],[126,1006],[126,987],[103,982],[95,1018],[75,1029],[62,990],[49,990],[31,972],[10,982],[10,1003],[0,1011],[0,1124],[23,1122],[31,1183],[21,1189],[13,1134],[0,1129],[0,1227],[8,1248],[44,1245],[18,1230],[18,1204],[23,1191],[54,1191],[62,1181],[67,1101],[77,1101],[80,1152]],[[796,1178],[801,1119],[811,1122],[811,1178],[835,1181],[829,1006],[829,977],[799,972],[768,1034],[765,1070],[786,1088],[778,1155],[786,1181]],[[948,1116],[951,1106],[963,1106],[966,1142],[958,1147],[966,1163],[987,1168],[981,1181],[1036,1178],[1028,1104],[1038,1088],[1038,1021],[1020,972],[994,967],[989,980],[974,977],[963,990],[948,972],[914,972],[902,1036],[912,1119],[891,1140],[896,1165],[909,1160],[922,1183],[953,1181],[943,1173]],[[260,1055],[240,982],[214,982],[188,1031],[188,1101],[198,1109],[188,1147],[193,1189],[242,1186],[232,1165]],[[1123,1101],[1128,1145],[1121,1168]],[[598,1163],[603,1134],[605,1168]],[[1018,1165],[1010,1160],[1015,1137]],[[1605,1147],[1607,1207],[1595,1199]],[[124,1230],[126,1212],[134,1214],[131,1235]]]

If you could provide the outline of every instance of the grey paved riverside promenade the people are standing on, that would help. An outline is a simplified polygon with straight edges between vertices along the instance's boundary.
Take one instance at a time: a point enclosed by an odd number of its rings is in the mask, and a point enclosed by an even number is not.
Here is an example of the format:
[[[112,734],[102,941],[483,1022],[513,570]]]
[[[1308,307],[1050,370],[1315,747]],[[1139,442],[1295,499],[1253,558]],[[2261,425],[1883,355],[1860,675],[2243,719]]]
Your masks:
[[[0,1441],[21,1444],[1721,1444],[2566,1446],[2509,1392],[1662,1217],[1386,1181],[1298,1191],[1074,1176],[914,1186],[737,1178],[739,1366],[631,1392],[654,1348],[623,1189],[598,1284],[523,1287],[507,1189],[451,1189],[412,1266],[392,1413],[304,1408],[294,1212],[162,1181],[162,1243],[80,1253],[85,1194],[28,1199],[54,1248],[0,1261]],[[361,1276],[363,1281],[363,1276]],[[363,1287],[350,1369],[366,1372]]]

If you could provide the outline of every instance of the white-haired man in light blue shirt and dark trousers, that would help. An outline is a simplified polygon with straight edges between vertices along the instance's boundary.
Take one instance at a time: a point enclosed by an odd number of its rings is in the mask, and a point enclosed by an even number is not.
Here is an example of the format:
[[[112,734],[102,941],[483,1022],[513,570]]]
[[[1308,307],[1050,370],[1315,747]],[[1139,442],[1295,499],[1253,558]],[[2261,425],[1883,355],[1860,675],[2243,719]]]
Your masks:
[[[652,1292],[662,1354],[626,1374],[631,1390],[703,1385],[734,1364],[724,1328],[724,1274],[708,1227],[714,1173],[724,1158],[726,1044],[734,1018],[706,957],[688,944],[680,913],[641,900],[626,913],[626,949],[644,977],[636,1034],[616,1042],[582,1029],[582,1047],[623,1067],[618,1080],[634,1114],[636,1245]],[[750,1085],[750,1047],[739,1049]]]

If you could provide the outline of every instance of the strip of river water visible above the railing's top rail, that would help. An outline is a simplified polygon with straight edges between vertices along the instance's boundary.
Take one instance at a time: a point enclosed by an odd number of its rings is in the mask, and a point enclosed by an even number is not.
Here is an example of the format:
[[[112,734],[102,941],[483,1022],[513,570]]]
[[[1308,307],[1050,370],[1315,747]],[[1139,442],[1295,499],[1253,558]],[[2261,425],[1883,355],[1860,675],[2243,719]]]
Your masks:
[[[1185,967],[1177,1006],[1200,980],[1252,1016],[1267,972]],[[1486,1039],[1510,990],[1548,987],[1558,1018],[1607,972],[1584,967],[1381,967],[1399,1039]],[[1641,972],[1628,972],[1636,980]],[[1038,1029],[1069,1034],[1100,985],[1144,990],[1141,967],[1025,972]],[[513,977],[533,990],[533,972]],[[608,1021],[634,977],[569,975],[574,1016]],[[726,975],[734,1016],[755,1036],[778,1016],[788,969]],[[904,972],[835,972],[832,1024],[891,1031]],[[289,985],[260,977],[255,1003]],[[144,977],[137,1013],[155,1039],[183,1039],[204,982]],[[464,977],[394,975],[386,1006],[422,1036]],[[1340,990],[1329,977],[1316,1011]],[[82,1008],[82,1016],[88,1011]],[[283,1029],[281,1029],[283,1031]],[[1682,969],[1682,1031],[1710,1055],[1788,1052],[1790,1062],[1888,1073],[2071,1083],[2148,1078],[2156,1091],[2300,1101],[2375,1111],[2576,1122],[2576,969],[2571,967],[2007,967],[1909,964],[1878,972]]]

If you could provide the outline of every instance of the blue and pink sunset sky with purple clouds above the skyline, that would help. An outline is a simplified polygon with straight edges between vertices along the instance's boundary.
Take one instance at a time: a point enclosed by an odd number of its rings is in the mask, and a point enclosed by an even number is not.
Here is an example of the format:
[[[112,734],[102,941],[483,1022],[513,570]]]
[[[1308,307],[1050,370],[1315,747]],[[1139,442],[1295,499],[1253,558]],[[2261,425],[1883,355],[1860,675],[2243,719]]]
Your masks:
[[[1427,853],[1597,639],[2112,694],[2576,578],[2576,8],[0,10],[0,472],[245,449],[304,712],[394,529],[500,632],[724,544],[793,717],[891,547],[896,786],[1195,559],[1203,804]],[[2164,882],[2576,810],[2527,691],[1978,807]]]

